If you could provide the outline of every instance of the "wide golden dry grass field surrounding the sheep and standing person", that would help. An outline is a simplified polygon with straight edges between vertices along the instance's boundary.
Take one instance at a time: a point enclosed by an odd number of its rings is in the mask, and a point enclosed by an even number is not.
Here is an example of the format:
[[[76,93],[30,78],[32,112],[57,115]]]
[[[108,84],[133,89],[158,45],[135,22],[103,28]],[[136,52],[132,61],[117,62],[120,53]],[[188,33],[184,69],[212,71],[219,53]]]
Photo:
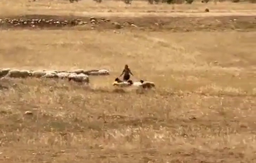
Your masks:
[[[2,162],[253,162],[255,33],[1,36],[2,67],[111,70],[109,77],[91,78],[94,90],[65,81],[9,81],[18,85],[1,95],[1,152],[9,157]],[[125,63],[157,90],[113,93],[111,83]],[[34,116],[24,116],[27,110]]]

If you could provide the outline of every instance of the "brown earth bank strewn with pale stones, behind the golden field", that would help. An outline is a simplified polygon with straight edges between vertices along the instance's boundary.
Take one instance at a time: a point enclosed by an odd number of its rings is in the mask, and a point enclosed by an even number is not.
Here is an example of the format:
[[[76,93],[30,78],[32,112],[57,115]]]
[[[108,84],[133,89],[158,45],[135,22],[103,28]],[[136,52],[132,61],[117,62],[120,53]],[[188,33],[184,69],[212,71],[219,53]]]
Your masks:
[[[73,28],[80,26],[79,28]],[[1,18],[0,27],[6,29],[138,29],[138,30],[168,30],[173,32],[189,31],[254,31],[256,18],[254,16],[219,16],[219,17],[74,17],[26,15],[13,18]]]

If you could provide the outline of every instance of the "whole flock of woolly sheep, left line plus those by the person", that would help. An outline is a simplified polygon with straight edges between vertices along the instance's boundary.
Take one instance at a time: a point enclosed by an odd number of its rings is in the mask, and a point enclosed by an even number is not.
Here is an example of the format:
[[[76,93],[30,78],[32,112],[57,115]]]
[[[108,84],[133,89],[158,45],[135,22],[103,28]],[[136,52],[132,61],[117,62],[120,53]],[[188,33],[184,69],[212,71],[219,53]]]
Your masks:
[[[109,75],[109,71],[105,69],[101,70],[83,70],[77,69],[73,71],[56,71],[56,70],[11,70],[0,69],[0,78],[48,78],[48,79],[67,79],[68,81],[74,81],[78,83],[89,84],[89,76],[96,75]],[[154,88],[155,84],[149,81],[140,80],[139,82],[133,82],[132,80],[121,81],[116,78],[112,84],[115,87],[129,87],[137,86],[141,88]]]

